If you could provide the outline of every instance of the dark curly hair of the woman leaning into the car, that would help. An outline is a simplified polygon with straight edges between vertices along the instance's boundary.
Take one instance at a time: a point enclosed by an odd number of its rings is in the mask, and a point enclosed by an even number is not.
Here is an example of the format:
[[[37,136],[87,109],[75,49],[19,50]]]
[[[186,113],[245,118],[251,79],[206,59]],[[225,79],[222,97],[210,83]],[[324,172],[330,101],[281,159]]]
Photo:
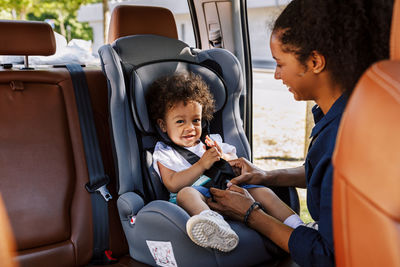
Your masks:
[[[393,0],[293,0],[273,32],[305,65],[312,51],[326,58],[331,78],[351,91],[374,62],[389,58]]]

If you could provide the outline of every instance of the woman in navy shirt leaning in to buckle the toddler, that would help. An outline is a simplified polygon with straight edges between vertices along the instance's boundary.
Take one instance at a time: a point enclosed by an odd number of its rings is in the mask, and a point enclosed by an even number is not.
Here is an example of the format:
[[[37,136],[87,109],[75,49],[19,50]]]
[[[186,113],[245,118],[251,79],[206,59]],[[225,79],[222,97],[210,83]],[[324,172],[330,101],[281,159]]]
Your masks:
[[[245,159],[225,190],[212,189],[211,208],[245,221],[291,254],[301,266],[333,266],[332,153],[347,98],[361,74],[389,57],[392,0],[294,0],[275,22],[270,44],[275,78],[296,100],[314,100],[315,127],[303,166],[263,171]],[[302,224],[279,198],[261,207],[241,183],[307,188],[307,206],[316,221]]]

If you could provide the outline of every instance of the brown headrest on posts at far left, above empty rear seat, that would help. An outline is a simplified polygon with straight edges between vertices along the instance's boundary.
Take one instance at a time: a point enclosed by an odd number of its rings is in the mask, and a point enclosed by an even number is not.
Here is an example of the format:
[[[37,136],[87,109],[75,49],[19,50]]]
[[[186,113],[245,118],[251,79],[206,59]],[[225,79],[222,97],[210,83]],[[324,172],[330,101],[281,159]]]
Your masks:
[[[46,22],[0,20],[0,55],[50,56],[56,52],[53,29]]]

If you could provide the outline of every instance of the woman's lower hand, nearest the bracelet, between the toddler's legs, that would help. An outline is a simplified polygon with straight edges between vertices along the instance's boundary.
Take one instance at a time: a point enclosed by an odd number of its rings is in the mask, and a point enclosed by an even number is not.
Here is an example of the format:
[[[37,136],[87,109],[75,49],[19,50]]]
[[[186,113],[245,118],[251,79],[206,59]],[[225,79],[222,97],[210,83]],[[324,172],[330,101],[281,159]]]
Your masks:
[[[210,188],[214,201],[207,199],[208,206],[232,219],[243,221],[247,210],[254,203],[250,193],[241,187],[232,185],[226,190]]]

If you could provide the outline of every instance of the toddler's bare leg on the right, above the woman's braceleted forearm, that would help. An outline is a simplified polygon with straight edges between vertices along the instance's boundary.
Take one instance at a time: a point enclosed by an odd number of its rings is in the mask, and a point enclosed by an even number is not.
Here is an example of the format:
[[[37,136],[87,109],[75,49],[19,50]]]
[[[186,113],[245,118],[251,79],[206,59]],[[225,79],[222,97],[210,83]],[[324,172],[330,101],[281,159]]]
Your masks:
[[[255,187],[248,189],[253,198],[260,202],[265,211],[283,222],[295,212],[287,206],[275,193],[267,187]]]

